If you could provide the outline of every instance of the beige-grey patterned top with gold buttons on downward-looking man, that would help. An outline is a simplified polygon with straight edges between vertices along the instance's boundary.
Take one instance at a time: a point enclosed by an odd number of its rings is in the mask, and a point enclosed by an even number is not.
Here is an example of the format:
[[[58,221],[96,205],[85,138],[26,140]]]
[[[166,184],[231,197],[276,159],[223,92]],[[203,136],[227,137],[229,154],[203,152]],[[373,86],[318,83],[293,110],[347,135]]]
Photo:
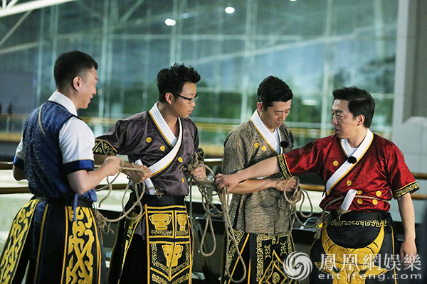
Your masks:
[[[288,146],[283,148],[286,153],[293,148],[292,132],[286,124],[280,126],[279,131],[280,141],[288,142]],[[277,153],[268,146],[252,121],[246,121],[228,133],[224,141],[223,173],[236,173],[274,155]],[[255,234],[286,234],[290,229],[289,206],[278,207],[282,193],[269,188],[248,195],[234,194],[230,204],[231,219],[236,224],[234,229]]]

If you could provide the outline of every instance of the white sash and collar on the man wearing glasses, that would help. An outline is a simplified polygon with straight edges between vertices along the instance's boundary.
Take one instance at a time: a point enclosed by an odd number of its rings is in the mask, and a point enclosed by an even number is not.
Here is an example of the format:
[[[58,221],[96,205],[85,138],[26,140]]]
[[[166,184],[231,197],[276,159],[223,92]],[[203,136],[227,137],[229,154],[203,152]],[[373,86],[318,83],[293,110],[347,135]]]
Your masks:
[[[154,104],[154,107],[152,107],[152,109],[149,111],[149,114],[151,114],[152,119],[154,120],[154,123],[159,128],[160,132],[162,132],[164,138],[167,139],[170,145],[174,146],[174,148],[172,148],[172,150],[169,153],[167,153],[167,155],[165,155],[156,163],[148,167],[149,170],[151,170],[152,176],[153,176],[153,175],[157,175],[162,170],[164,170],[164,168],[166,168],[175,159],[176,154],[178,154],[179,148],[181,147],[183,129],[181,124],[181,119],[178,118],[179,135],[178,135],[178,138],[176,139],[174,133],[169,128],[166,121],[164,121],[162,114],[160,114],[160,111],[157,108],[157,103]],[[174,138],[172,138],[170,134],[172,134]],[[172,143],[170,143],[169,141],[172,141]],[[135,161],[135,165],[142,165],[141,160]],[[145,183],[145,187],[148,190],[149,195],[155,195],[156,189],[154,188],[152,180],[150,178],[147,178],[147,180],[144,180],[144,183]]]

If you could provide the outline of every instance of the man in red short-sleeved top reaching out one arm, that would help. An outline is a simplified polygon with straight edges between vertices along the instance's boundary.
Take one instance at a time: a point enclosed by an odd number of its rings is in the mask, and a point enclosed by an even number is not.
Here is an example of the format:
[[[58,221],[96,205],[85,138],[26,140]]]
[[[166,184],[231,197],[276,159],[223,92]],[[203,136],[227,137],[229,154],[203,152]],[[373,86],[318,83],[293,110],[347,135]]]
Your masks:
[[[278,172],[285,178],[316,173],[325,181],[320,207],[329,214],[310,252],[310,283],[386,283],[396,279],[389,201],[394,197],[399,204],[404,227],[400,257],[407,266],[416,257],[411,193],[418,183],[399,148],[369,130],[375,109],[371,94],[344,87],[333,95],[334,135],[234,175],[218,174],[217,182],[232,189],[241,180]],[[347,195],[349,207],[342,206]]]

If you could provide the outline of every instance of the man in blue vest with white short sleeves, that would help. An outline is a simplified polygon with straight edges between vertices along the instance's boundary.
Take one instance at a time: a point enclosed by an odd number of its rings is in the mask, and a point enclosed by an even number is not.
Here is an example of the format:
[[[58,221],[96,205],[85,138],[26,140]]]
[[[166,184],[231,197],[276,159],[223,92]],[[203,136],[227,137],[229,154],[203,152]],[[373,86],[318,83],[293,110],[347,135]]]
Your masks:
[[[24,275],[26,283],[107,283],[93,188],[116,174],[121,160],[111,157],[94,169],[95,137],[77,116],[96,94],[97,67],[81,51],[61,54],[53,69],[56,92],[26,120],[13,173],[28,180],[34,196],[12,223],[0,283],[22,283]]]

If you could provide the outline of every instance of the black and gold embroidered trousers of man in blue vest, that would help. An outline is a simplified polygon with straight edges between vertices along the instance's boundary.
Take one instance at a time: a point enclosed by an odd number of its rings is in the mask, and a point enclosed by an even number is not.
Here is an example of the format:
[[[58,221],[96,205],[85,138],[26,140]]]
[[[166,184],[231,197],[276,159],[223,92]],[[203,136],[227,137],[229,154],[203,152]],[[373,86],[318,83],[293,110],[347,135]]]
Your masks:
[[[92,202],[79,202],[75,212],[65,203],[35,198],[19,210],[1,253],[0,283],[19,282],[28,261],[31,283],[106,283]]]

